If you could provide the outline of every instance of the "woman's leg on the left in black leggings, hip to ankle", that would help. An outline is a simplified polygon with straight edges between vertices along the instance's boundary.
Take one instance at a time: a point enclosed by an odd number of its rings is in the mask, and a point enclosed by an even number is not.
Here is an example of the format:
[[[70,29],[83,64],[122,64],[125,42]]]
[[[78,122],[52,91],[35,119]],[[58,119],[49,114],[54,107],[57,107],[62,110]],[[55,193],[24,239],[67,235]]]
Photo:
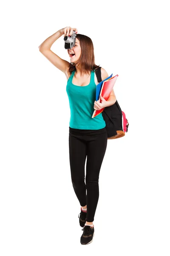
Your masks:
[[[81,140],[81,136],[69,134],[69,157],[71,168],[71,180],[74,192],[77,195],[81,206],[86,205],[85,186],[85,160],[86,143]]]

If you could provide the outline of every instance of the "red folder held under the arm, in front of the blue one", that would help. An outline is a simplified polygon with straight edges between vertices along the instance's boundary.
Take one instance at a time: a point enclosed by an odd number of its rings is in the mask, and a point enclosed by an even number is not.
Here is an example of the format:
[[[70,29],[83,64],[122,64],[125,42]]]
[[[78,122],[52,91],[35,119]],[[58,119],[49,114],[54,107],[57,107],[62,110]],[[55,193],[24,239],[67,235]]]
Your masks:
[[[100,95],[102,95],[102,97],[105,99],[105,100],[108,100],[110,94],[111,94],[111,91],[113,90],[113,86],[117,80],[117,77],[118,75],[116,76],[113,76],[111,77],[110,79],[108,80],[105,80],[102,84],[102,88],[101,88],[101,91],[100,91]],[[101,99],[99,97],[99,102],[101,103]],[[102,111],[104,110],[105,108],[102,108],[100,110],[94,110],[94,113],[92,115],[92,118],[94,118],[95,116],[99,115],[100,113],[102,113]]]

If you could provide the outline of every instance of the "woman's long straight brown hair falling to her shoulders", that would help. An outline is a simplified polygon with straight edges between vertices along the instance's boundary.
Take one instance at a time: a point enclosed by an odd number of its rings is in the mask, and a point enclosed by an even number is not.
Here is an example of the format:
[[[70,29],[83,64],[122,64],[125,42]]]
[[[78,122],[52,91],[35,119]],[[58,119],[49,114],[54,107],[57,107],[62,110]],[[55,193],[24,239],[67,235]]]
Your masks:
[[[89,73],[92,70],[96,70],[99,66],[95,64],[94,59],[94,46],[91,38],[86,35],[77,34],[76,38],[80,42],[81,55],[80,63],[82,65],[82,72]],[[71,62],[69,65],[69,72],[76,70],[75,63]]]

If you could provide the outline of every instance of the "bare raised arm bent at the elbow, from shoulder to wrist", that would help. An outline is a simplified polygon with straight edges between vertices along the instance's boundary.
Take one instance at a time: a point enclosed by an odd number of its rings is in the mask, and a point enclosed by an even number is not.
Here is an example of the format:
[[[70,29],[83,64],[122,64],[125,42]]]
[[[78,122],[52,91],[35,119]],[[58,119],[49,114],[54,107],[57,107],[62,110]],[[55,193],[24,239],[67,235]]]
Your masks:
[[[54,42],[62,35],[64,35],[64,29],[59,29],[56,33],[45,39],[45,41],[40,44],[39,50],[48,59],[48,61],[65,73],[70,63],[60,58],[50,49],[52,44],[54,44]]]

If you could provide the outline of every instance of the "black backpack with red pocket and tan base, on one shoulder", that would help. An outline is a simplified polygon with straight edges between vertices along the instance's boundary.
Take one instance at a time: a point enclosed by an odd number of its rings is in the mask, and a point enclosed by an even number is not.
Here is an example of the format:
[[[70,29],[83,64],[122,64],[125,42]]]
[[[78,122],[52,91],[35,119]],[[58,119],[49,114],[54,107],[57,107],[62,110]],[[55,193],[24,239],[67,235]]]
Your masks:
[[[98,67],[95,70],[95,73],[97,81],[101,82],[101,67]],[[121,110],[117,100],[113,105],[104,108],[104,110],[102,111],[102,116],[106,123],[108,140],[117,139],[125,136],[125,132],[127,132],[129,123],[126,119],[125,113]]]

